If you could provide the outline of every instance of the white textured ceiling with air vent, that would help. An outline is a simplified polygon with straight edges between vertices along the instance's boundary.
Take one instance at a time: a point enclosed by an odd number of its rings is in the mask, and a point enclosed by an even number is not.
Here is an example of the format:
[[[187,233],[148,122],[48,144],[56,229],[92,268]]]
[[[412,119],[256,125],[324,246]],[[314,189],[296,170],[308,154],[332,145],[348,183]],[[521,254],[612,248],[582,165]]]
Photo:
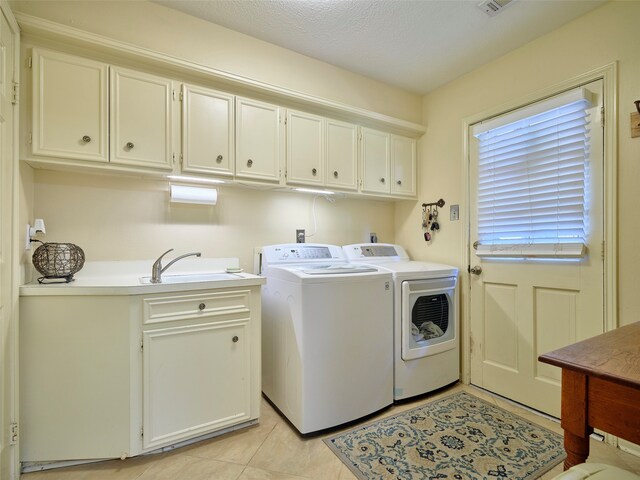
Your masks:
[[[425,94],[605,3],[516,0],[155,0],[231,30]]]

